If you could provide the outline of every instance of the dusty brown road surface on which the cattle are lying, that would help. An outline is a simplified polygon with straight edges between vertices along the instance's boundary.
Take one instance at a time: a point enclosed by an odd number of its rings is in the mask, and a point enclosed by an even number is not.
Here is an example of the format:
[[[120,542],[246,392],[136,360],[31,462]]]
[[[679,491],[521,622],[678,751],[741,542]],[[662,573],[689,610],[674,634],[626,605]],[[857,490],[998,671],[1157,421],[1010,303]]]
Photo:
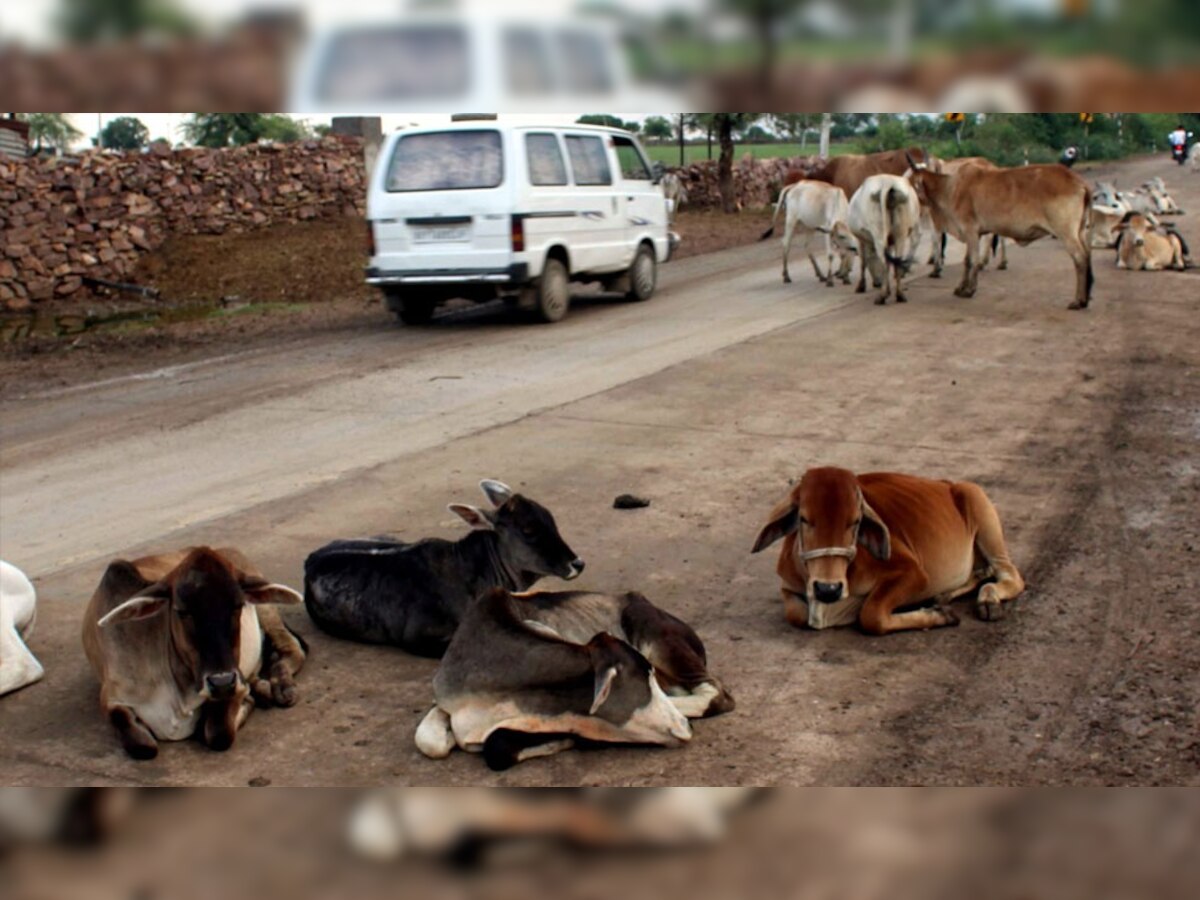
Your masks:
[[[1200,211],[1200,179],[1162,174]],[[1180,221],[1200,246],[1194,216]],[[960,250],[952,251],[952,259]],[[552,328],[502,312],[380,319],[0,403],[6,559],[35,576],[43,683],[0,701],[10,782],[1200,784],[1200,277],[1097,252],[1068,312],[1052,241],[1014,250],[973,300],[959,274],[871,305],[754,246],[664,268],[644,305],[590,300]],[[923,266],[924,269],[924,266]],[[800,266],[796,266],[800,271]],[[1000,623],[870,638],[782,620],[763,516],[805,467],[983,484],[1030,584]],[[229,754],[125,758],[96,706],[79,613],[114,556],[236,545],[299,586],[331,538],[461,533],[445,511],[498,478],[547,504],[584,586],[688,619],[736,713],[683,750],[572,752],[490,773],[421,757],[434,664],[311,643],[290,710]],[[649,497],[618,511],[612,498]],[[552,587],[547,580],[544,587]]]

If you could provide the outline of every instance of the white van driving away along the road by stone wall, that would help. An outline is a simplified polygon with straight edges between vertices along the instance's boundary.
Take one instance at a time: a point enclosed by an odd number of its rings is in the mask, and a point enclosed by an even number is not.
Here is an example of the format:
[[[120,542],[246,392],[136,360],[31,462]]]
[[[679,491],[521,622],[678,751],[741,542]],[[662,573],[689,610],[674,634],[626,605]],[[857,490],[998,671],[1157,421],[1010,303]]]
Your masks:
[[[390,134],[367,193],[367,282],[407,324],[503,296],[558,322],[570,282],[646,300],[678,238],[632,134],[474,118]]]

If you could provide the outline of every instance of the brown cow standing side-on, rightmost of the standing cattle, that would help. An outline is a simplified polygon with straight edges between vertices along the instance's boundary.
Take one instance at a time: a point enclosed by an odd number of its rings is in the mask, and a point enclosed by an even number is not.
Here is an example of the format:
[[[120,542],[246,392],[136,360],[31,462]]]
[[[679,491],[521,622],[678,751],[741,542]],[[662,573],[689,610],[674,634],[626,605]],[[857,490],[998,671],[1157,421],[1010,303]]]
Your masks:
[[[1087,236],[1092,200],[1084,179],[1058,164],[1015,169],[966,166],[944,175],[911,162],[910,179],[922,204],[967,245],[962,282],[954,289],[958,296],[974,296],[978,287],[980,235],[998,234],[1022,245],[1052,235],[1075,264],[1075,299],[1069,308],[1087,306],[1093,283]]]

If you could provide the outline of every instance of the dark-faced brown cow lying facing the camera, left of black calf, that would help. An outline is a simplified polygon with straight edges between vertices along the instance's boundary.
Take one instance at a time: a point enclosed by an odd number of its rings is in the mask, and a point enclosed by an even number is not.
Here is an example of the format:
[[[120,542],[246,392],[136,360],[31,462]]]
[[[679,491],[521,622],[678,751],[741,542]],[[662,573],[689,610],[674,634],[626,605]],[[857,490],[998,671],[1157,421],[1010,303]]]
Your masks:
[[[84,613],[83,646],[126,752],[151,760],[160,740],[193,734],[227,750],[256,700],[294,704],[306,650],[272,604],[301,601],[236,550],[110,563]]]

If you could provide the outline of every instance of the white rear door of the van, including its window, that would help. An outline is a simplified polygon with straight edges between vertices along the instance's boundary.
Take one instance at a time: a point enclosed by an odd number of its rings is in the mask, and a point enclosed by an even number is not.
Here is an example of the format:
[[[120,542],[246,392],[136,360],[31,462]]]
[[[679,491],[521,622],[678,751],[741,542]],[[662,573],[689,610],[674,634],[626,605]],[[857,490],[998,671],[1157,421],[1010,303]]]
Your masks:
[[[401,134],[379,161],[371,210],[384,272],[505,270],[511,262],[504,139],[496,128]]]

